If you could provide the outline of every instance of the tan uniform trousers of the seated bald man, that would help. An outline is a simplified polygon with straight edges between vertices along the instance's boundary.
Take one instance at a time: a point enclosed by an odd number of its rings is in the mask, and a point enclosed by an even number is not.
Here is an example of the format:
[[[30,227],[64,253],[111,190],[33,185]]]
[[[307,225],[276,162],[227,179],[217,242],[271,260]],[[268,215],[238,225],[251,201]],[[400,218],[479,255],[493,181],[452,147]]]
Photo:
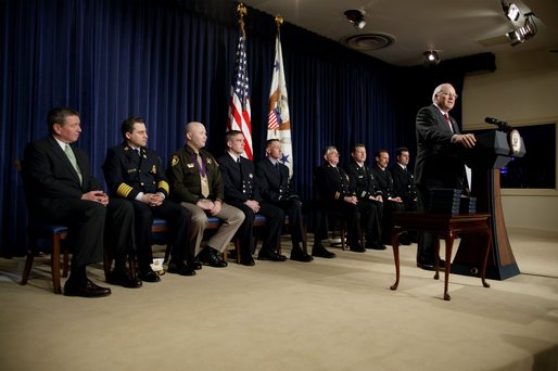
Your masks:
[[[200,206],[188,202],[182,202],[180,205],[192,215],[189,240],[190,244],[194,246],[194,256],[198,256],[201,251],[203,232],[210,225],[207,214]],[[242,221],[244,221],[244,213],[227,203],[223,203],[219,214],[215,215],[215,217],[221,220],[221,223],[215,234],[207,241],[207,246],[223,253],[234,236],[234,233],[237,233],[240,225],[242,225]]]

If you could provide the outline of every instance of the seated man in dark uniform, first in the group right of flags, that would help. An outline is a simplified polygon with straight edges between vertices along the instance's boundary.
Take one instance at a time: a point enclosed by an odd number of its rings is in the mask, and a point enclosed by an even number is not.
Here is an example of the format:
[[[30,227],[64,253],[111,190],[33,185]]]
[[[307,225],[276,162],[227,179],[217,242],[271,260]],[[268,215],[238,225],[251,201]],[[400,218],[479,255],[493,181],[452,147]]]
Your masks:
[[[347,244],[352,252],[364,253],[365,244],[362,241],[363,233],[360,228],[360,209],[363,214],[370,213],[370,206],[358,205],[358,199],[351,190],[351,183],[345,170],[338,166],[339,152],[335,146],[328,145],[324,150],[324,164],[316,169],[314,186],[317,190],[317,197],[326,213],[334,212],[343,215],[347,227]],[[368,215],[366,216],[368,217]],[[325,219],[325,218],[322,218]],[[327,223],[321,222],[317,226],[315,242],[312,255],[331,257],[329,252],[324,253],[325,248],[320,240],[327,235]]]

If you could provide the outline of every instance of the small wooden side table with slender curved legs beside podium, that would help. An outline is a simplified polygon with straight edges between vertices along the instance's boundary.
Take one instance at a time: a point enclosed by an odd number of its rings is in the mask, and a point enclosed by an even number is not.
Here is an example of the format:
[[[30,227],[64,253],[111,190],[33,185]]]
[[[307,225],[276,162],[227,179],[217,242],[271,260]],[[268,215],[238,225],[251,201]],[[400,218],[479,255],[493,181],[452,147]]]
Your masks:
[[[400,284],[400,234],[408,230],[431,232],[435,241],[435,274],[434,280],[440,278],[440,239],[445,240],[445,278],[444,278],[444,300],[449,300],[447,283],[449,280],[452,250],[454,240],[459,234],[477,233],[482,236],[484,252],[481,267],[481,281],[484,287],[490,287],[486,283],[486,261],[492,243],[492,230],[490,225],[490,214],[430,214],[430,213],[395,213],[394,228],[392,232],[393,258],[395,260],[395,283],[391,290],[397,290]]]

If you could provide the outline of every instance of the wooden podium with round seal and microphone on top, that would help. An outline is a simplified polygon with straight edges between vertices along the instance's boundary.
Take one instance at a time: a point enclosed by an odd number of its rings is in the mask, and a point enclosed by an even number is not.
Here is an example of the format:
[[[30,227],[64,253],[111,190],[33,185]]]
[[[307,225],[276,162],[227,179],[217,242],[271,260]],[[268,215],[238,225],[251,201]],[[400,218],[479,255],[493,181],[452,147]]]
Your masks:
[[[466,151],[466,164],[472,171],[471,196],[477,212],[491,215],[492,248],[486,263],[486,278],[505,280],[520,273],[509,244],[502,210],[499,169],[512,157],[525,154],[523,140],[515,129],[492,130],[477,136],[477,145]],[[481,236],[464,235],[452,263],[452,272],[479,277],[482,267]]]

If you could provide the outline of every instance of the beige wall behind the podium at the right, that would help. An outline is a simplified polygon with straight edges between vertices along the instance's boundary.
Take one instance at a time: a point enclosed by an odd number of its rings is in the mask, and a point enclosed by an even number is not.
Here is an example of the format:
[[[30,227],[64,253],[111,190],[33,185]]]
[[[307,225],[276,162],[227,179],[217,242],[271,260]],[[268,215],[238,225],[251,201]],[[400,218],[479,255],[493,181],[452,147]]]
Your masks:
[[[525,125],[558,123],[558,53],[545,50],[500,53],[496,54],[496,68],[494,73],[465,79],[461,93],[465,130],[490,128],[483,124],[486,116],[508,121],[520,131]],[[558,142],[558,138],[555,140]],[[525,148],[529,151],[529,143]],[[557,153],[549,155],[557,157]],[[556,189],[503,190],[502,193],[508,229],[536,230],[558,236]]]

